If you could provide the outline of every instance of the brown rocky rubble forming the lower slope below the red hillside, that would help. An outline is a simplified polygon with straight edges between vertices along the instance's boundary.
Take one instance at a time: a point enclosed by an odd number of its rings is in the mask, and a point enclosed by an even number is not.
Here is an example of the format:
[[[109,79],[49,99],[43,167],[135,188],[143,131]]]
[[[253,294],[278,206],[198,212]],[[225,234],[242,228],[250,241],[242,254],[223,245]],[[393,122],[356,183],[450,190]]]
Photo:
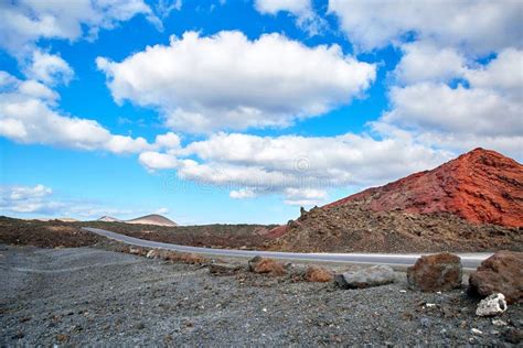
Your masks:
[[[450,214],[373,211],[360,203],[303,211],[268,249],[308,252],[523,250],[523,230]]]

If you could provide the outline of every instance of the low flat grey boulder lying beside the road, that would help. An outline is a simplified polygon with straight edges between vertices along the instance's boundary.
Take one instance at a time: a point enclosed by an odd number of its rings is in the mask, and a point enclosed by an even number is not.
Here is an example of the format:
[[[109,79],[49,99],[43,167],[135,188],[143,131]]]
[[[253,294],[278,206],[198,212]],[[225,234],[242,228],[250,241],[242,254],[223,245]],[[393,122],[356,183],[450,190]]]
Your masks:
[[[393,283],[396,280],[394,270],[388,265],[373,265],[355,272],[345,272],[334,276],[334,284],[340,289],[365,289]]]

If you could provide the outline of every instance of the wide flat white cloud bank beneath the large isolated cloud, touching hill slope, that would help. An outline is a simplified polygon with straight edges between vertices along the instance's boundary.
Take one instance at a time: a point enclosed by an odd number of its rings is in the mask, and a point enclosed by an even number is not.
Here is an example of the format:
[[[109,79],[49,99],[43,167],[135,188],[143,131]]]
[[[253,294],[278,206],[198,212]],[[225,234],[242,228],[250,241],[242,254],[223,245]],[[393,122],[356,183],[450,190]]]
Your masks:
[[[231,188],[232,198],[277,193],[287,204],[324,202],[332,188],[384,184],[449,159],[408,137],[258,137],[218,133],[178,149],[145,152],[148,170],[175,170],[181,178]],[[307,204],[306,204],[307,203]]]

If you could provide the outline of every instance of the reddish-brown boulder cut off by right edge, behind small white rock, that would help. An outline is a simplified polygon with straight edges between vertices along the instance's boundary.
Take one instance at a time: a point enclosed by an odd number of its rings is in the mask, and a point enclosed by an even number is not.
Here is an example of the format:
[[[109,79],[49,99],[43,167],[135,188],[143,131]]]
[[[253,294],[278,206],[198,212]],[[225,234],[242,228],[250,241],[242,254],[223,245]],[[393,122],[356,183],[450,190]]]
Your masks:
[[[506,303],[523,301],[523,252],[498,251],[469,278],[469,292],[482,297],[502,293]]]

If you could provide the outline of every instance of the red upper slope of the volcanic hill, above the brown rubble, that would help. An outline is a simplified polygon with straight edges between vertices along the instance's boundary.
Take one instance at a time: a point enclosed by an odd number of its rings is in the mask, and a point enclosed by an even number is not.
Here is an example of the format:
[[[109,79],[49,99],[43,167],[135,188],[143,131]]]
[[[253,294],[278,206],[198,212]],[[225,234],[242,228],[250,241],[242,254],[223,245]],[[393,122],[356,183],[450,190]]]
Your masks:
[[[435,170],[331,203],[359,203],[373,211],[449,213],[474,224],[523,226],[523,165],[476,149]]]

